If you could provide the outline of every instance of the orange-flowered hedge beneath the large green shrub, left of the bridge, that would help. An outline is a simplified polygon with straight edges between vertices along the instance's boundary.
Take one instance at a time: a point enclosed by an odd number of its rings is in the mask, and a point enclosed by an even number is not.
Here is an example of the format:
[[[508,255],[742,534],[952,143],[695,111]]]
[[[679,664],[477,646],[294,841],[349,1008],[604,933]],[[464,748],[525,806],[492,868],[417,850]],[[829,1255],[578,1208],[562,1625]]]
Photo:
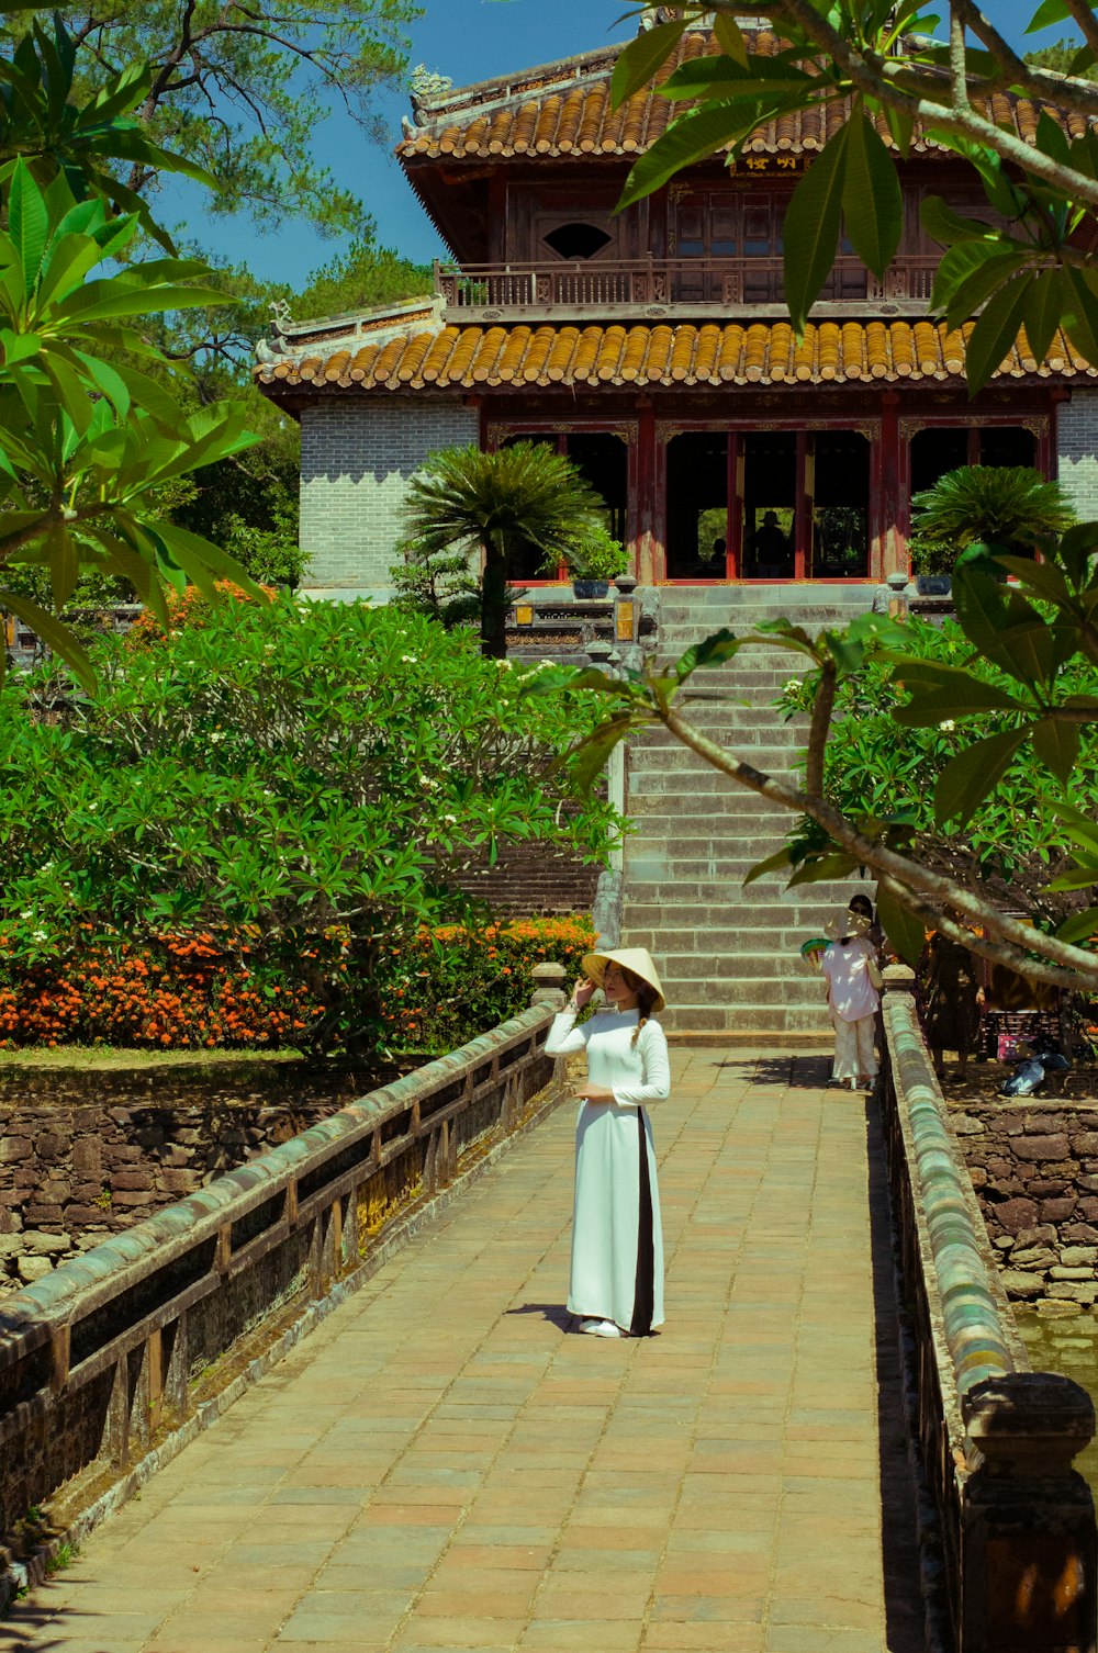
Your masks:
[[[66,957],[30,959],[18,932],[0,934],[0,1048],[93,1045],[152,1050],[311,1048],[322,997],[284,959],[265,959],[251,932],[174,932],[134,944],[88,936]],[[531,919],[465,931],[422,931],[389,949],[374,984],[384,1041],[440,1053],[529,1005],[536,964],[570,977],[594,944],[580,919]],[[313,949],[346,969],[342,936]],[[327,957],[322,957],[327,954]]]

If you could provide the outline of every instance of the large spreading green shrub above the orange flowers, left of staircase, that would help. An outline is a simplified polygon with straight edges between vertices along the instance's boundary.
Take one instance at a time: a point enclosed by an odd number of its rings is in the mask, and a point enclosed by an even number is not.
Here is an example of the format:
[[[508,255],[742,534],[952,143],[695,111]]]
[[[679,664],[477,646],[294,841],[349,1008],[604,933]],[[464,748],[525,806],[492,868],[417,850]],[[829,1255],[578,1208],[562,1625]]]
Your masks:
[[[60,668],[0,691],[0,934],[25,967],[60,969],[81,936],[155,952],[205,932],[225,969],[316,1007],[279,1007],[303,1048],[367,1056],[394,949],[483,921],[470,866],[514,843],[604,858],[590,691],[534,696],[475,640],[365,603],[187,597],[174,618],[152,646],[104,643],[94,696]],[[169,1020],[205,1041],[203,1015]]]

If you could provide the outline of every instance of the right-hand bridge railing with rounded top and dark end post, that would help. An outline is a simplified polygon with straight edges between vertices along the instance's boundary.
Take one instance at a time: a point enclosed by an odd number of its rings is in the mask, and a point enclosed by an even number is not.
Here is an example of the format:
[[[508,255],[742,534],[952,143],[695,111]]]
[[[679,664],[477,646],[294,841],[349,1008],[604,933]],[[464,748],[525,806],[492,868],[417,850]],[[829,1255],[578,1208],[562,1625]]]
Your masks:
[[[926,1489],[931,1646],[1093,1653],[1095,1506],[1072,1460],[1090,1395],[1032,1372],[919,1028],[886,972],[885,1131],[900,1228],[913,1428]]]

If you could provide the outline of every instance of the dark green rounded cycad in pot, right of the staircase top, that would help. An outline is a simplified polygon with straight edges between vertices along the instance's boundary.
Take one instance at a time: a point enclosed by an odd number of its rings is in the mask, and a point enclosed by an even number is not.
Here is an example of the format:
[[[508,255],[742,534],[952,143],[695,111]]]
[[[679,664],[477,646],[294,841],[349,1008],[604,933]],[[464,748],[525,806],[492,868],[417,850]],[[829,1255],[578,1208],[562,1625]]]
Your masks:
[[[966,464],[946,471],[933,488],[914,494],[911,504],[919,512],[913,539],[952,545],[949,572],[962,554],[1024,554],[1045,534],[1062,534],[1075,522],[1060,483],[1047,483],[1027,464]],[[928,577],[933,577],[929,569],[918,582],[919,590]]]

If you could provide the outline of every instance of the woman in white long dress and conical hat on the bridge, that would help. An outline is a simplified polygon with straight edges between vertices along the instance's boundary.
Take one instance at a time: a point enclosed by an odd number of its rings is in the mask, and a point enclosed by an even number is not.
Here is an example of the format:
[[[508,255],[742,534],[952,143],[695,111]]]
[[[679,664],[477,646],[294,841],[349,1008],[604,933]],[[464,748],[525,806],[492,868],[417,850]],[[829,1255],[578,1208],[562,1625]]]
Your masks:
[[[645,1103],[671,1089],[656,969],[643,947],[590,952],[585,979],[556,1017],[547,1056],[587,1051],[575,1122],[569,1309],[597,1337],[642,1337],[663,1324],[663,1231]],[[607,1008],[574,1027],[595,987]]]

